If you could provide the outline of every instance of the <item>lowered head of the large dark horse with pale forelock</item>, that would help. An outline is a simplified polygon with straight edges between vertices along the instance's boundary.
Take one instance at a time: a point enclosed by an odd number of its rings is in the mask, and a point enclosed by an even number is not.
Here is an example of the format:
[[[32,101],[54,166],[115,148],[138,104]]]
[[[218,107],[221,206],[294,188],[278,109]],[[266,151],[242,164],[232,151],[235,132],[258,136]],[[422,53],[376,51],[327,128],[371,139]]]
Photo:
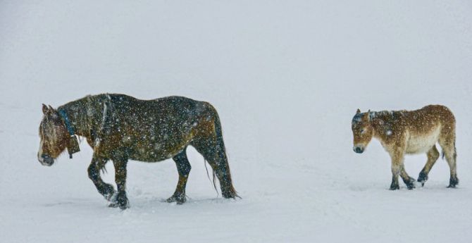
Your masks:
[[[37,156],[43,166],[52,166],[54,159],[67,147],[68,132],[58,111],[43,104],[42,112],[44,116],[39,125],[41,142]]]

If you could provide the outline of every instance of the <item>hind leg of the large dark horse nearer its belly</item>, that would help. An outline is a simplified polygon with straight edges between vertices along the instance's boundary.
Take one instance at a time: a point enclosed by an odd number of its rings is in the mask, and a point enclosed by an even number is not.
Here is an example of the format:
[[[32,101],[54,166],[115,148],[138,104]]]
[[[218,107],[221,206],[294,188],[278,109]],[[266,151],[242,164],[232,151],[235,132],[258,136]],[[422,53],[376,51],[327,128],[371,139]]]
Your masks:
[[[187,185],[187,179],[189,177],[190,163],[187,158],[187,149],[184,149],[180,152],[180,154],[173,156],[173,160],[175,165],[177,166],[177,171],[179,173],[179,182],[177,183],[177,187],[175,188],[175,192],[172,197],[169,197],[166,201],[167,202],[174,202],[176,201],[177,204],[183,204],[187,199],[185,198],[185,187]]]

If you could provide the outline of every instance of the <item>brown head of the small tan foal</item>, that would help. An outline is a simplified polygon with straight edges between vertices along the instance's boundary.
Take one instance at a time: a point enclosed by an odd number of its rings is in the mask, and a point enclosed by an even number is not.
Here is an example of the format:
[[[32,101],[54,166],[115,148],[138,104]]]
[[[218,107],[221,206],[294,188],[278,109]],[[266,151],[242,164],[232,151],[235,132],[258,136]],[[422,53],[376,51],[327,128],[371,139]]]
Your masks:
[[[352,134],[354,135],[354,152],[362,154],[373,137],[373,126],[369,116],[370,111],[361,113],[357,109],[352,118]]]

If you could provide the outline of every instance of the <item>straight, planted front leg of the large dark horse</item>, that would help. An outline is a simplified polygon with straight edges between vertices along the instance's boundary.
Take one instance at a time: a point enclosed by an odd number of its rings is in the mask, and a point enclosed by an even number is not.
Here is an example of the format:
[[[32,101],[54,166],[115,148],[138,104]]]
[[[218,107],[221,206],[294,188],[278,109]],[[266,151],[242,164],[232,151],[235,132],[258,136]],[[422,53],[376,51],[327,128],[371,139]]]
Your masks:
[[[130,207],[128,197],[126,197],[126,164],[127,159],[114,159],[113,166],[115,166],[115,182],[118,187],[118,194],[116,194],[116,201],[110,204],[110,207],[120,207],[126,209]]]

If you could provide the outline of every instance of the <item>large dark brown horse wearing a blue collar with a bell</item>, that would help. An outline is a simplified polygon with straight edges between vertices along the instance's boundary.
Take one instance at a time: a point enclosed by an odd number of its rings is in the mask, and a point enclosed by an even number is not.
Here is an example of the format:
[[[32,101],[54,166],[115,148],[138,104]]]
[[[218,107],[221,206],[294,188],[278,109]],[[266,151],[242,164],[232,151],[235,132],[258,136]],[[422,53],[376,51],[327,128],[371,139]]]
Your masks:
[[[125,192],[128,160],[158,162],[173,158],[179,180],[168,202],[183,204],[190,173],[189,145],[204,156],[216,174],[225,198],[238,197],[232,186],[230,167],[215,108],[204,101],[170,96],[149,101],[123,94],[99,94],[69,102],[57,109],[43,104],[39,126],[39,162],[51,166],[66,148],[79,151],[77,138],[85,137],[94,150],[89,177],[110,206],[128,208]],[[113,161],[118,192],[100,177]],[[113,197],[115,196],[115,197]]]

